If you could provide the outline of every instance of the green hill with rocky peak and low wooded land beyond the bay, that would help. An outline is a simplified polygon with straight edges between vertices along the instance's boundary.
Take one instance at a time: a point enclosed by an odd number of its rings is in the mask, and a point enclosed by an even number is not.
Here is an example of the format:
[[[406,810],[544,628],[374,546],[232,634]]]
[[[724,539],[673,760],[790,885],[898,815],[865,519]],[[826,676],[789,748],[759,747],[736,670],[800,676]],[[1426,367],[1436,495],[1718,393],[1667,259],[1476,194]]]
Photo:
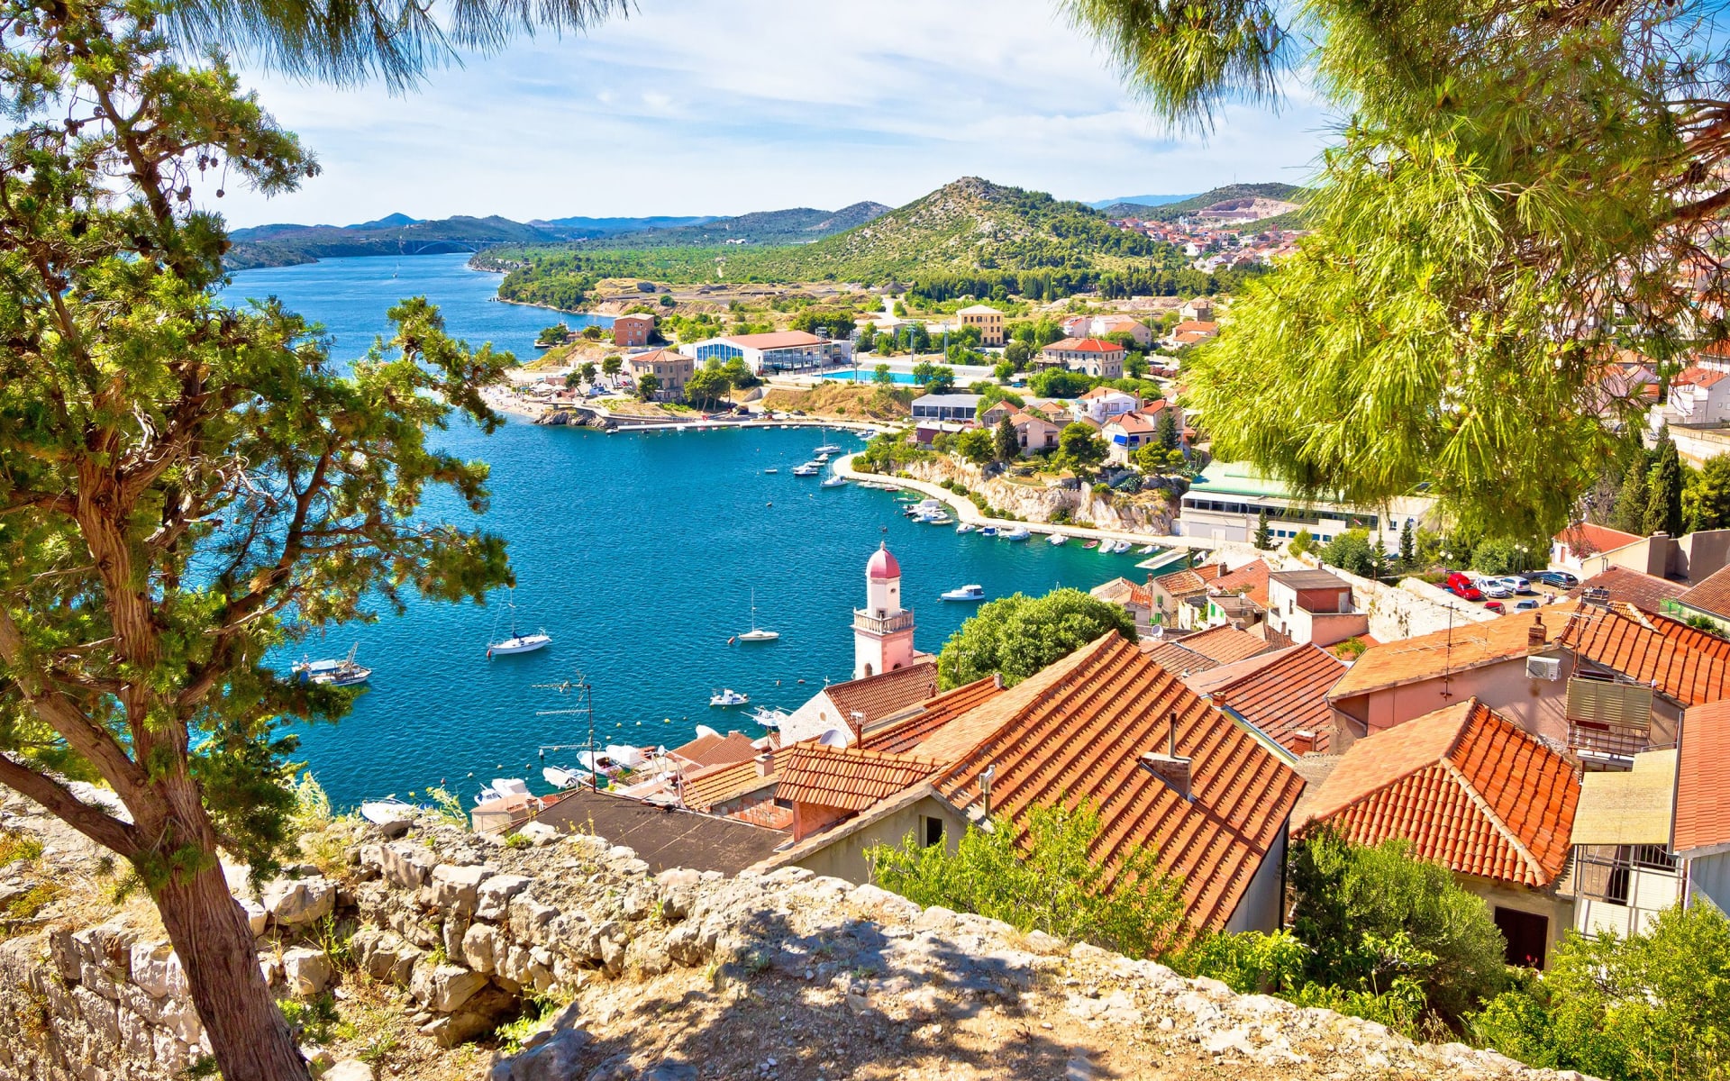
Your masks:
[[[1183,259],[1171,246],[1121,230],[1100,211],[1045,192],[965,176],[865,225],[789,247],[505,247],[476,265],[509,270],[500,296],[580,308],[604,277],[663,282],[907,282],[936,292],[1067,296],[1104,280],[1159,289]],[[1173,285],[1175,287],[1175,285]]]

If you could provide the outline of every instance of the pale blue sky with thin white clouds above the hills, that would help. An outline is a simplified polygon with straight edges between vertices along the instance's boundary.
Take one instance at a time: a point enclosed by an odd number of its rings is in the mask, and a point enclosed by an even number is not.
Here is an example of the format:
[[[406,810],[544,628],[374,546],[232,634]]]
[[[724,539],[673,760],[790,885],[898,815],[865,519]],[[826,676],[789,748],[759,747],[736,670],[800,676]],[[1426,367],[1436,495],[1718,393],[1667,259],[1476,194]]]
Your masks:
[[[1278,114],[1173,133],[1054,0],[638,0],[408,97],[249,83],[325,173],[270,201],[230,192],[235,227],[901,206],[967,175],[1086,201],[1296,183],[1329,125],[1299,90]]]

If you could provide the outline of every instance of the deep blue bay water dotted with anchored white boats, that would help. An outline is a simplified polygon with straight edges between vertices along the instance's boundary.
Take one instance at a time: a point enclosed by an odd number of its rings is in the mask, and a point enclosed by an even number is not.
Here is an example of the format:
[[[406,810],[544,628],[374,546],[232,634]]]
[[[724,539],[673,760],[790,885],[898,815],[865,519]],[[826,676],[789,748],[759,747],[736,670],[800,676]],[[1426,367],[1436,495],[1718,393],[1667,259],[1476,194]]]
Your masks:
[[[455,334],[526,355],[550,313],[490,303],[497,282],[465,270],[464,256],[330,259],[239,273],[230,294],[282,297],[324,322],[339,355],[358,355],[386,330],[391,301],[426,294]],[[879,541],[901,562],[915,642],[932,652],[974,609],[939,602],[943,590],[977,581],[1002,597],[1138,574],[1130,555],[955,536],[901,517],[891,493],[820,489],[815,477],[789,474],[823,441],[815,429],[606,436],[512,422],[493,436],[455,425],[441,441],[493,465],[484,526],[510,541],[522,628],[545,628],[554,643],[490,661],[497,602],[410,604],[403,617],[382,614],[311,642],[313,656],[358,642],[374,669],[339,725],[299,728],[301,758],[339,804],[439,782],[467,801],[491,777],[529,777],[543,789],[538,745],[588,733],[580,716],[536,716],[574,702],[535,683],[578,669],[593,683],[602,742],[675,745],[699,723],[761,735],[740,711],[711,709],[709,695],[732,687],[753,706],[792,709],[825,678],[849,678],[851,611],[863,604],[865,560]],[[829,441],[860,446],[837,431]],[[427,510],[460,517],[450,500]],[[758,623],[782,638],[727,645],[751,626],[753,588]]]

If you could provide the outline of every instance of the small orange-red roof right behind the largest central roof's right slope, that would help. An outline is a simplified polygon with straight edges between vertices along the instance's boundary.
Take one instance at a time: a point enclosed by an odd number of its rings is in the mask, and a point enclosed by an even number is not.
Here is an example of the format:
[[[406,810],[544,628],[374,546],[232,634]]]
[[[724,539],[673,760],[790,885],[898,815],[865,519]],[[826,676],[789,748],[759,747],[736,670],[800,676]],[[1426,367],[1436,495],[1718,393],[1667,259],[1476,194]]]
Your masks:
[[[1325,752],[1334,728],[1327,692],[1346,664],[1317,645],[1294,645],[1261,657],[1227,664],[1187,680],[1190,690],[1209,695],[1294,754]],[[1308,745],[1298,737],[1308,732]]]

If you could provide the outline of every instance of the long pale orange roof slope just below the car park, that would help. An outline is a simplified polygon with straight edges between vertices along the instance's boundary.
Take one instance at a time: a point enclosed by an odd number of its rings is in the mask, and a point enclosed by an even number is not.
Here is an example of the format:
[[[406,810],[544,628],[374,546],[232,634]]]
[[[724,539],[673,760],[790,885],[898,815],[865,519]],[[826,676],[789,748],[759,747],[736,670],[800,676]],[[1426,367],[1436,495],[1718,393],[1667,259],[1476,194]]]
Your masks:
[[[1543,621],[1545,642],[1555,642],[1576,607],[1573,602],[1554,604],[1535,612],[1509,612],[1484,623],[1462,623],[1451,630],[1372,645],[1327,697],[1337,702],[1372,690],[1422,683],[1450,671],[1522,657],[1533,619]]]

